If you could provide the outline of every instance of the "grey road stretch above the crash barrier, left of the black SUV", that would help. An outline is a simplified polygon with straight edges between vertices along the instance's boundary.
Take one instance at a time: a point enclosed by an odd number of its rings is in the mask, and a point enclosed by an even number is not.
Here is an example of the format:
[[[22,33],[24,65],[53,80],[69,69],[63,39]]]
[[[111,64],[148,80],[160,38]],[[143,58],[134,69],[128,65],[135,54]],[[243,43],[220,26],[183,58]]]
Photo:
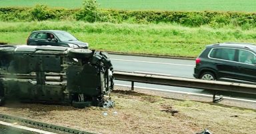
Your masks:
[[[110,55],[115,71],[145,71],[193,78],[195,60]]]

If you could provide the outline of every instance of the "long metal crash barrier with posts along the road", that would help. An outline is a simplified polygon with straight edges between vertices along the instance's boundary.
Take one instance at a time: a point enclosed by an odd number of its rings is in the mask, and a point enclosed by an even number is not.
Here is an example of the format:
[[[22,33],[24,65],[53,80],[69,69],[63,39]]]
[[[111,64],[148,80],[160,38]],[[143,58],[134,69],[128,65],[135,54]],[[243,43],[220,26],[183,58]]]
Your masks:
[[[121,81],[131,81],[131,89],[134,89],[134,82],[151,83],[157,85],[169,85],[176,87],[189,87],[195,89],[206,89],[211,91],[229,91],[235,93],[247,93],[256,95],[256,85],[243,83],[229,83],[225,81],[207,81],[201,79],[190,79],[183,77],[171,77],[165,75],[154,75],[145,73],[132,73],[123,71],[114,71],[114,77]],[[213,102],[221,101],[215,99],[213,94]]]

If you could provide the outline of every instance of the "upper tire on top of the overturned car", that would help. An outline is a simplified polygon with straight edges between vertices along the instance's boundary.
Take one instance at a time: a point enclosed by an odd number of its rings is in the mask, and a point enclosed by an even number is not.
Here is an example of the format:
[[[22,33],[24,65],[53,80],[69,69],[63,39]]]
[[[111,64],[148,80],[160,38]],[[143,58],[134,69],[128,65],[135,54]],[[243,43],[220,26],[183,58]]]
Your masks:
[[[85,59],[93,56],[93,51],[89,49],[71,49],[69,51],[69,57]]]

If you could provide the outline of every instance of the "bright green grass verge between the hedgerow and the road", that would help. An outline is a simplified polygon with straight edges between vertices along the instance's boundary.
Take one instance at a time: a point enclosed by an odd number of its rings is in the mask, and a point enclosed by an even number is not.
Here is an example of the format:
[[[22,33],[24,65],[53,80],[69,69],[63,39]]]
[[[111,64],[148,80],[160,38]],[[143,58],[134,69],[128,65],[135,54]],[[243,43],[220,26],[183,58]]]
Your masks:
[[[217,42],[256,43],[256,28],[183,27],[167,24],[85,23],[82,21],[0,22],[0,42],[25,44],[29,33],[59,29],[73,33],[91,49],[197,57],[205,45]]]

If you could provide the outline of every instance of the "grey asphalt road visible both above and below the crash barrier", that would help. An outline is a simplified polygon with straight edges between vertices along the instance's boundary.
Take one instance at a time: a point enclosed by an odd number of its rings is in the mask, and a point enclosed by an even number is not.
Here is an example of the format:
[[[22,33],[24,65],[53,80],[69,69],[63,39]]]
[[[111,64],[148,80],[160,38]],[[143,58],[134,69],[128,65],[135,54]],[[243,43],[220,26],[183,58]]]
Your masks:
[[[193,78],[195,60],[168,59],[159,57],[140,57],[131,55],[109,55],[113,63],[114,71],[144,72],[153,74],[165,74],[174,77]],[[116,85],[131,85],[128,81],[115,81]],[[145,83],[135,83],[135,87],[144,87],[155,90],[168,90],[181,93],[194,93],[200,95],[211,95],[209,91],[201,89],[191,89],[185,87],[172,87],[164,85],[151,85]],[[241,93],[221,93],[226,97],[236,99],[249,99],[256,102],[253,95],[241,95]]]

